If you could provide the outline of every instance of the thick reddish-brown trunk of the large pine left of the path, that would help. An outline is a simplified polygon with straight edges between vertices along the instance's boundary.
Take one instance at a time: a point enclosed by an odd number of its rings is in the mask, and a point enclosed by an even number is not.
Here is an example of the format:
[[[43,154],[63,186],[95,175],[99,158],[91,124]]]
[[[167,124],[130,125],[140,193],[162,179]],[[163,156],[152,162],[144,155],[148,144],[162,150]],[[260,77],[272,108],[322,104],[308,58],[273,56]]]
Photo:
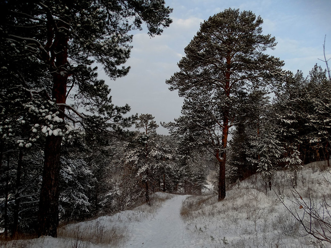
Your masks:
[[[58,27],[69,29],[69,25],[59,22]],[[52,47],[55,54],[51,64],[55,68],[52,71],[53,89],[52,98],[56,103],[66,103],[67,81],[69,72],[66,70],[68,59],[69,36],[65,31],[58,32],[54,38]],[[65,118],[65,107],[59,107],[60,118]],[[60,178],[60,155],[61,136],[50,135],[46,137],[44,149],[44,167],[42,186],[39,198],[38,212],[38,236],[50,235],[57,237],[57,226],[59,223],[59,178]]]

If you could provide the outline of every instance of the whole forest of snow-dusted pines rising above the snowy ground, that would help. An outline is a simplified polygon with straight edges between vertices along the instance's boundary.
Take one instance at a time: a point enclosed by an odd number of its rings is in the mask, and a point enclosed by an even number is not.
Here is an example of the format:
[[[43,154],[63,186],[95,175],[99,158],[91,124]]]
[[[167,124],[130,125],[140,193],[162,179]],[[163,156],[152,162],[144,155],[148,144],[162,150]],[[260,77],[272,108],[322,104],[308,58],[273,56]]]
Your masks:
[[[277,171],[295,188],[303,165],[330,166],[328,58],[308,75],[284,70],[267,54],[275,37],[251,11],[201,23],[165,82],[184,99],[181,116],[156,123],[115,105],[97,66],[112,80],[126,76],[130,31],[154,37],[171,25],[164,1],[0,7],[1,239],[57,237],[66,223],[151,206],[159,191],[201,195],[210,184],[223,201],[256,174],[265,194]]]

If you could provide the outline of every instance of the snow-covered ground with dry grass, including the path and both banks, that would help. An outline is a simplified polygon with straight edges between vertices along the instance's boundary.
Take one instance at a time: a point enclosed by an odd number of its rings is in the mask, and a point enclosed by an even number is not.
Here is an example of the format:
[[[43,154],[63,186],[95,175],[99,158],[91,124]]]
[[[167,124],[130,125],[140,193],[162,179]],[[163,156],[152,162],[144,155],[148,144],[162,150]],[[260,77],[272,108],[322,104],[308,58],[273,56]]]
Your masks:
[[[305,200],[309,189],[314,206],[323,196],[326,200],[331,196],[331,186],[325,180],[331,180],[331,174],[320,171],[322,167],[321,163],[306,165],[297,179],[296,190]],[[58,238],[14,240],[0,247],[331,247],[327,243],[311,244],[314,239],[303,236],[303,228],[282,204],[284,201],[299,216],[303,214],[300,205],[292,202],[299,196],[292,195],[288,175],[286,171],[277,172],[267,194],[261,177],[252,176],[228,190],[221,202],[215,195],[158,192],[152,207],[142,205],[113,216],[70,224],[59,228]]]

